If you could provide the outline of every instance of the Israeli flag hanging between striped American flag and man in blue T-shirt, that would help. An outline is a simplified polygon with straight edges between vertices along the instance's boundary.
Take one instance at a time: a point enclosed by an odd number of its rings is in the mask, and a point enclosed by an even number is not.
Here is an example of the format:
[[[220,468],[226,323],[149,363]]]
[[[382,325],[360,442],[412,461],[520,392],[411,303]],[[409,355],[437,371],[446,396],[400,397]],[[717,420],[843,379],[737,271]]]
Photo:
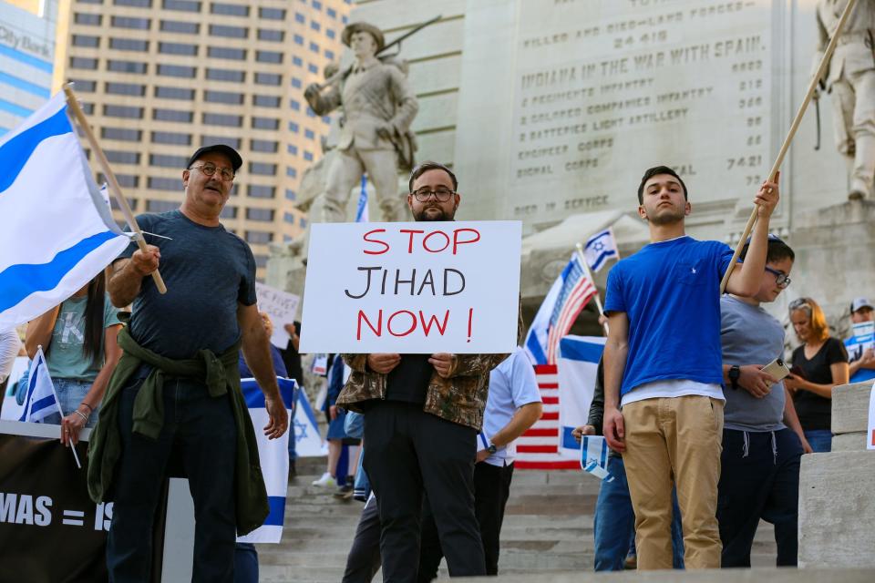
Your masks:
[[[595,380],[602,358],[602,336],[565,336],[556,361],[559,378],[559,454],[569,459],[581,455],[581,444],[571,432],[590,416]]]

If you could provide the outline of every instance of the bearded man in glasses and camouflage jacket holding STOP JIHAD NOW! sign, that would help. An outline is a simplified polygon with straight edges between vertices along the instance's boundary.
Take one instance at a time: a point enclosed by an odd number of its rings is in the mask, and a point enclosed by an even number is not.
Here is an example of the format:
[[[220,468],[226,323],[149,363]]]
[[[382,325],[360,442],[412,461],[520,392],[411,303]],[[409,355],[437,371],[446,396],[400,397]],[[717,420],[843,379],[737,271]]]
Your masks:
[[[454,219],[460,197],[448,168],[424,162],[413,170],[409,187],[415,220]],[[353,373],[337,404],[366,412],[364,465],[379,506],[385,580],[417,578],[424,492],[449,574],[485,575],[474,517],[474,458],[489,371],[507,354],[343,356]]]

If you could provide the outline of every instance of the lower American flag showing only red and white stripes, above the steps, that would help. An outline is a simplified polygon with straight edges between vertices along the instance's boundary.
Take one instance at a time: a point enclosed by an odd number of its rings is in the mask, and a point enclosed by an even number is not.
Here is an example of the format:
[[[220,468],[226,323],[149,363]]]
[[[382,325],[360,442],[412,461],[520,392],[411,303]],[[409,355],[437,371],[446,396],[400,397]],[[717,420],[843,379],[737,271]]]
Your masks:
[[[580,470],[580,460],[561,457],[559,445],[559,374],[555,364],[535,366],[544,413],[517,439],[514,467],[527,470]]]

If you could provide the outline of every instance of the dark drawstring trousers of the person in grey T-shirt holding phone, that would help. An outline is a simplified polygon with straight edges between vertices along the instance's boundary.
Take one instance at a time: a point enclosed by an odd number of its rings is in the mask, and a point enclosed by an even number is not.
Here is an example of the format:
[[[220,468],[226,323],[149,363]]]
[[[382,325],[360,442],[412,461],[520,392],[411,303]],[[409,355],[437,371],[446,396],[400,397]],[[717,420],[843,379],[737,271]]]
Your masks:
[[[717,486],[724,568],[750,567],[760,518],[775,525],[777,566],[796,567],[801,456],[802,445],[791,429],[724,430]]]

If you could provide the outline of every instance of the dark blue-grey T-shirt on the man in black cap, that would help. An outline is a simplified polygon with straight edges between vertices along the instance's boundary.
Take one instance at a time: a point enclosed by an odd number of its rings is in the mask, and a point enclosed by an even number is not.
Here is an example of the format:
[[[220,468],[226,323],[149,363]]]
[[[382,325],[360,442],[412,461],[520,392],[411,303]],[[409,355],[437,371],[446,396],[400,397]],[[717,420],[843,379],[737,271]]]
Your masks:
[[[179,210],[137,217],[145,235],[161,251],[159,271],[167,293],[145,277],[134,300],[129,331],[141,346],[169,358],[191,358],[202,349],[228,350],[240,338],[238,303],[255,303],[255,259],[233,233],[205,227]],[[131,243],[119,258],[137,250]]]

